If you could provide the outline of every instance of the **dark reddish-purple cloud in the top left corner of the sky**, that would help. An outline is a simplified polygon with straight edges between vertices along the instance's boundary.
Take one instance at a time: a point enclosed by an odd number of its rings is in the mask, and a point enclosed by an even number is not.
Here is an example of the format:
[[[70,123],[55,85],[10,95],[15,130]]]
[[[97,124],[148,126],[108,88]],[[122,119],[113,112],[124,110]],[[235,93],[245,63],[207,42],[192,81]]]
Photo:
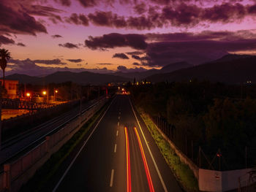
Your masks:
[[[0,1],[0,31],[14,34],[47,33],[45,26],[29,15],[15,1]]]

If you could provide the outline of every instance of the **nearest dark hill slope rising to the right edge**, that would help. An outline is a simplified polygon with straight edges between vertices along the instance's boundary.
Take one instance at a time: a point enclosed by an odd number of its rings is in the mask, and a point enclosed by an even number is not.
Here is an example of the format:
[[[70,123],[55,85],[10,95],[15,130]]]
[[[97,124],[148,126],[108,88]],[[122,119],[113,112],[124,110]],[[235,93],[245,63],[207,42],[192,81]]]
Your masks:
[[[192,79],[226,82],[232,84],[244,83],[247,80],[256,82],[256,56],[227,55],[217,61],[180,69],[165,74],[154,74],[146,77],[152,82],[187,81]]]

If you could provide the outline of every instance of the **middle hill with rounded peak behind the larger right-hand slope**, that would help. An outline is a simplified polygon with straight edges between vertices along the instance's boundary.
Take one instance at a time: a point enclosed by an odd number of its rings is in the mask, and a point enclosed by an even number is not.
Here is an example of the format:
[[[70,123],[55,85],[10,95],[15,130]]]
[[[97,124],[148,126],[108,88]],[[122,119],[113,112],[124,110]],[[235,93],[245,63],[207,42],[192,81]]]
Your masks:
[[[132,79],[135,78],[136,80],[143,80],[146,77],[151,76],[153,74],[174,72],[178,69],[184,69],[191,66],[192,65],[188,64],[187,62],[178,62],[178,63],[168,64],[166,66],[163,66],[162,69],[150,69],[146,72],[115,72],[112,74],[120,77],[127,77]]]

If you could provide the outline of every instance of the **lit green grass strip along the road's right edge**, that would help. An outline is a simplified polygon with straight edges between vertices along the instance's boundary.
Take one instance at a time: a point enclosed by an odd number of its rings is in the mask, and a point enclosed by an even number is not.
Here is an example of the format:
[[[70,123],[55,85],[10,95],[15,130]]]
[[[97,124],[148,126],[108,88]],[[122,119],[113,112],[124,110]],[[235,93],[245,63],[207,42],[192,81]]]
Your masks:
[[[195,178],[192,170],[189,169],[189,166],[181,162],[178,155],[176,155],[174,150],[170,147],[170,144],[159,133],[157,126],[150,118],[148,118],[148,115],[146,115],[141,108],[138,108],[137,110],[155,142],[157,143],[157,146],[164,156],[165,161],[170,166],[170,169],[173,171],[173,174],[175,174],[178,182],[181,183],[184,190],[189,192],[199,191],[197,179]]]

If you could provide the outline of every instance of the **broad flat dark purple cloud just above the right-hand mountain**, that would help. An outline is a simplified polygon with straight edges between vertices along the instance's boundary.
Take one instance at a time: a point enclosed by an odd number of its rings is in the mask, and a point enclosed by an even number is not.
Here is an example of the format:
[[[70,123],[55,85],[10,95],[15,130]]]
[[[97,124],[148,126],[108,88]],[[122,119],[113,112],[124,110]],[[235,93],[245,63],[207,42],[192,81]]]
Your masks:
[[[165,66],[179,61],[202,64],[229,52],[256,50],[256,39],[235,41],[156,42],[148,45],[143,65]]]

